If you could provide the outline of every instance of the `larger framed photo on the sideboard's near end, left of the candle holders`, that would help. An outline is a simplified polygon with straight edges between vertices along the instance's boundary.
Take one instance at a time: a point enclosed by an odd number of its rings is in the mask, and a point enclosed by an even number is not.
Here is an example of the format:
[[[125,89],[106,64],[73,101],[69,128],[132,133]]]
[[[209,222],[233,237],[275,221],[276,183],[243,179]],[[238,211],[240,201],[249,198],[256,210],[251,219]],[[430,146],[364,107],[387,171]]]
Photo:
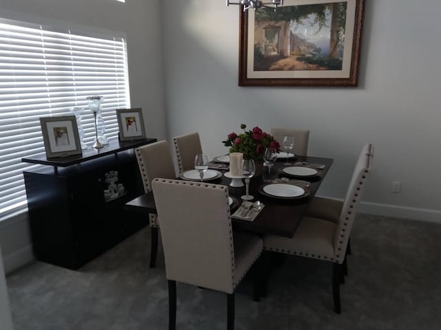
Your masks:
[[[81,155],[81,144],[74,115],[41,117],[46,157]]]

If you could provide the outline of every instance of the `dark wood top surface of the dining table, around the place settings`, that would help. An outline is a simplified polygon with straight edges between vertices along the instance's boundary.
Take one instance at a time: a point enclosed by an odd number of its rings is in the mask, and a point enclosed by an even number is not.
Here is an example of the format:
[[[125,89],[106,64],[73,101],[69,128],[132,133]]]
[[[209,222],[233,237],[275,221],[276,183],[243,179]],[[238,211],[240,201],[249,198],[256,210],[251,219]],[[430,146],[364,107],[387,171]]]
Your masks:
[[[258,232],[263,234],[276,234],[279,236],[292,237],[296,232],[297,226],[300,223],[302,217],[305,216],[311,199],[316,195],[320,184],[334,162],[331,158],[322,157],[296,157],[298,160],[309,162],[311,164],[323,164],[325,168],[318,170],[318,175],[314,177],[290,177],[292,179],[302,179],[310,181],[309,196],[299,199],[278,199],[274,197],[268,197],[261,194],[258,188],[265,184],[265,179],[275,179],[276,177],[288,177],[281,172],[285,167],[283,163],[285,159],[278,159],[273,168],[271,168],[271,175],[268,175],[267,168],[263,168],[262,175],[252,177],[249,183],[249,192],[254,196],[254,200],[259,200],[265,204],[265,208],[258,214],[254,221],[243,221],[232,218],[232,223],[235,229],[247,230],[252,232]],[[292,162],[294,159],[290,159]],[[225,170],[220,170],[225,172]],[[241,203],[240,196],[245,195],[245,186],[240,188],[234,188],[229,186],[232,179],[225,177],[224,175],[216,180],[209,181],[213,184],[225,184],[229,188],[229,195],[236,197]],[[156,213],[156,206],[154,203],[154,197],[152,192],[143,194],[132,201],[125,204],[127,210],[133,210],[135,212],[142,212],[145,214]],[[232,210],[232,213],[234,209]]]

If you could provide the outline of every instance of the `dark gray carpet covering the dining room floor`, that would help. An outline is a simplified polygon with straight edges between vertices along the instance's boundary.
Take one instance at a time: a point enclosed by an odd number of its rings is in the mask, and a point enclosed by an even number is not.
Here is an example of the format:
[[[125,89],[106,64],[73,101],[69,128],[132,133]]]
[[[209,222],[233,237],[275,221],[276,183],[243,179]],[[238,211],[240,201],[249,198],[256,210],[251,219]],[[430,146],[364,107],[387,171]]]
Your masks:
[[[441,329],[441,225],[360,214],[351,236],[341,315],[331,266],[288,257],[260,303],[251,281],[240,283],[236,329]],[[10,274],[14,330],[167,329],[163,252],[153,270],[149,253],[145,228],[79,271],[34,262]],[[177,329],[226,329],[224,294],[177,290]]]

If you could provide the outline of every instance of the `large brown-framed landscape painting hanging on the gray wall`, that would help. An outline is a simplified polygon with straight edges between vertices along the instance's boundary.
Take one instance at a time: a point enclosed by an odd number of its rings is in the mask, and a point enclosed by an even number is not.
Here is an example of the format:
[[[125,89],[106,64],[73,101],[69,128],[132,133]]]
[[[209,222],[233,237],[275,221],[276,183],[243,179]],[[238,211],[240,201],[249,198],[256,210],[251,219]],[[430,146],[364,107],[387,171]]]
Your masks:
[[[364,0],[240,8],[239,86],[358,86]]]

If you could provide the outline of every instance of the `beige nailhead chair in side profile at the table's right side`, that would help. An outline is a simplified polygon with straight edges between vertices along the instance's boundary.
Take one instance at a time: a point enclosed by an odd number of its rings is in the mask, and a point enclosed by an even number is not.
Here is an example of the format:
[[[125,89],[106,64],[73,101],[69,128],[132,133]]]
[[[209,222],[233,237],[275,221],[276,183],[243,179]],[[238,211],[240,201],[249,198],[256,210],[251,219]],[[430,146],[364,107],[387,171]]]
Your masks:
[[[291,239],[273,235],[266,235],[263,238],[264,250],[305,256],[334,265],[332,291],[334,310],[338,314],[341,313],[340,281],[345,272],[347,244],[365,181],[371,169],[372,157],[373,145],[366,144],[353,171],[338,221],[330,221],[331,217],[321,218],[320,212],[316,212],[315,217],[308,215],[302,219]],[[329,203],[329,205],[334,204]],[[334,210],[330,214],[333,212]]]

